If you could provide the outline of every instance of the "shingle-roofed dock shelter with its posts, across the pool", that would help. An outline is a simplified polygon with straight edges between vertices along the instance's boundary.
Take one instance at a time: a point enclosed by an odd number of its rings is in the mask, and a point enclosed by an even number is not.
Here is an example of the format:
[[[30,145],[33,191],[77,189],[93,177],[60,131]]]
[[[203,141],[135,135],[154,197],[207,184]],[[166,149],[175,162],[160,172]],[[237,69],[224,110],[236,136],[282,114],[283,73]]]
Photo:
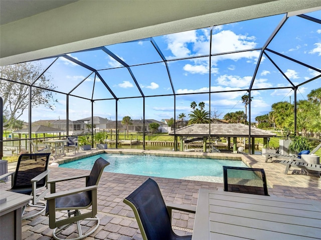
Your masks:
[[[181,150],[183,150],[184,136],[193,136],[203,138],[203,151],[206,151],[207,139],[211,137],[227,137],[228,148],[231,144],[231,137],[233,137],[233,152],[237,151],[237,137],[248,137],[251,134],[252,142],[255,142],[255,137],[263,137],[263,144],[267,143],[268,137],[276,136],[269,130],[263,130],[257,127],[250,127],[243,123],[197,123],[187,125],[185,127],[176,129],[169,133],[170,135],[175,135],[175,142],[178,142],[178,136],[181,137]],[[201,137],[201,138],[200,138]],[[176,143],[175,146],[178,144]],[[254,152],[255,145],[252,144],[252,152]]]

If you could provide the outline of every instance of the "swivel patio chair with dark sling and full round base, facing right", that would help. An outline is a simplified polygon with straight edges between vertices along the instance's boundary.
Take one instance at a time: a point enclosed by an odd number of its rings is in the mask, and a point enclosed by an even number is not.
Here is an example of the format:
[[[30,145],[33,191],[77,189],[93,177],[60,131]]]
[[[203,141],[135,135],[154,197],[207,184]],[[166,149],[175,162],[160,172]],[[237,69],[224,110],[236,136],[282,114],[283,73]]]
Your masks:
[[[73,223],[77,224],[79,236],[76,238],[68,239],[83,239],[89,236],[98,228],[100,220],[96,216],[97,188],[101,174],[105,166],[107,166],[108,164],[108,161],[106,161],[102,157],[99,157],[95,161],[89,175],[66,177],[48,181],[48,183],[50,184],[51,194],[45,196],[45,199],[47,200],[46,215],[49,216],[49,227],[51,229],[54,228],[53,237],[55,239],[62,239],[58,237],[59,233],[67,227],[73,225]],[[68,182],[66,181],[80,178],[85,178],[85,187],[56,193],[56,182],[63,181],[64,184],[68,184]],[[91,208],[90,210],[88,209],[89,207]],[[86,209],[86,211],[81,213],[80,209]],[[59,215],[56,216],[57,210],[67,210],[67,217],[61,217]],[[56,217],[59,217],[59,219],[56,219]],[[94,224],[91,224],[90,226],[92,227],[90,228],[90,230],[83,234],[80,220],[97,221],[97,224],[95,225],[95,227],[93,227]]]

